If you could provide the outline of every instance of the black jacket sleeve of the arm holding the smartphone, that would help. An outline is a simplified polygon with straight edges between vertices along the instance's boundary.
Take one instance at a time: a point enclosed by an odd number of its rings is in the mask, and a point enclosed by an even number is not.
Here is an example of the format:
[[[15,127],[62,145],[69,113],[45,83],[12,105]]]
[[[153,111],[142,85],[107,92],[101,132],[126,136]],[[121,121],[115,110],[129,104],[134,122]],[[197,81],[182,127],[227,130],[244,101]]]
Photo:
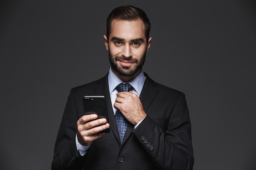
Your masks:
[[[72,88],[56,138],[52,170],[81,170],[83,168],[86,154],[84,156],[79,154],[75,140],[78,119],[74,101],[74,88]]]

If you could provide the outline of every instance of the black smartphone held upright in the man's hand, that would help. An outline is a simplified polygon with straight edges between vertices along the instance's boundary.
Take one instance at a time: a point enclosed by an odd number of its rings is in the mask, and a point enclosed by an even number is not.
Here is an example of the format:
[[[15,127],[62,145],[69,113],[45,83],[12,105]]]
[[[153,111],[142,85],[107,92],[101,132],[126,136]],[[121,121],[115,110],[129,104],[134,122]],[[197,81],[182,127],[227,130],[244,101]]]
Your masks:
[[[107,119],[108,123],[108,109],[107,102],[104,96],[83,96],[83,108],[85,114],[92,114],[90,112],[97,113],[98,118]],[[89,113],[88,113],[89,112]],[[102,130],[99,133],[108,133],[110,132],[110,128]]]

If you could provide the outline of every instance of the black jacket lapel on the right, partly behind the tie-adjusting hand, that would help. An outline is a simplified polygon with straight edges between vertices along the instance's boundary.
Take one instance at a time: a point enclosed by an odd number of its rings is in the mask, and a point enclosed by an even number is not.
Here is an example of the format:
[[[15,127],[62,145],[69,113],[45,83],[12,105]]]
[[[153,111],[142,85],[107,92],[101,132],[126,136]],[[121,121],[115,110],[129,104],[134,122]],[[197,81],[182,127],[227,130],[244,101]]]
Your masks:
[[[146,79],[145,79],[141,94],[139,96],[139,99],[141,101],[141,104],[142,104],[145,112],[146,112],[148,110],[148,107],[150,106],[150,104],[155,99],[155,96],[158,93],[158,89],[156,88],[157,84],[152,79],[150,79],[150,77],[148,77],[148,75],[146,73],[144,73],[144,75],[146,76]],[[132,125],[128,122],[128,128],[127,128],[126,134],[124,136],[123,144],[128,139],[128,137],[131,135],[132,130],[134,130],[134,125]]]

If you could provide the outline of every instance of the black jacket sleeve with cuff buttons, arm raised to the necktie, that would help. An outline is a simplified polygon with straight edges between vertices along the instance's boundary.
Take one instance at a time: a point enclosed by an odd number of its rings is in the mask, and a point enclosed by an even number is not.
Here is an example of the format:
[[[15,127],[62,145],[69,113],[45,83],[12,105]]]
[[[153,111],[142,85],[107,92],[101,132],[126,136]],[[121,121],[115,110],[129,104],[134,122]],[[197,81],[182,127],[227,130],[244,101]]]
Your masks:
[[[147,115],[132,134],[159,169],[192,170],[191,122],[184,93],[169,115],[165,131]]]

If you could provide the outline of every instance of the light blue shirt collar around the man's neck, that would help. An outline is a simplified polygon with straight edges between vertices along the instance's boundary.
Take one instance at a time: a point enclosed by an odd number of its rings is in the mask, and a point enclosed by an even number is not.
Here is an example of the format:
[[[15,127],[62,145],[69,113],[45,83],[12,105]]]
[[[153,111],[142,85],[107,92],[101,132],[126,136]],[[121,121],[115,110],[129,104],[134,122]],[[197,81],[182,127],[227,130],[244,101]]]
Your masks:
[[[132,79],[130,82],[123,82],[121,79],[119,79],[119,77],[117,77],[111,70],[109,70],[108,73],[108,87],[109,87],[109,93],[111,94],[116,86],[120,83],[129,83],[130,85],[132,85],[132,87],[134,88],[134,90],[138,93],[138,95],[140,95],[144,82],[145,82],[146,77],[144,76],[143,71],[141,70],[141,72],[139,73],[139,75],[137,75],[134,79]]]

